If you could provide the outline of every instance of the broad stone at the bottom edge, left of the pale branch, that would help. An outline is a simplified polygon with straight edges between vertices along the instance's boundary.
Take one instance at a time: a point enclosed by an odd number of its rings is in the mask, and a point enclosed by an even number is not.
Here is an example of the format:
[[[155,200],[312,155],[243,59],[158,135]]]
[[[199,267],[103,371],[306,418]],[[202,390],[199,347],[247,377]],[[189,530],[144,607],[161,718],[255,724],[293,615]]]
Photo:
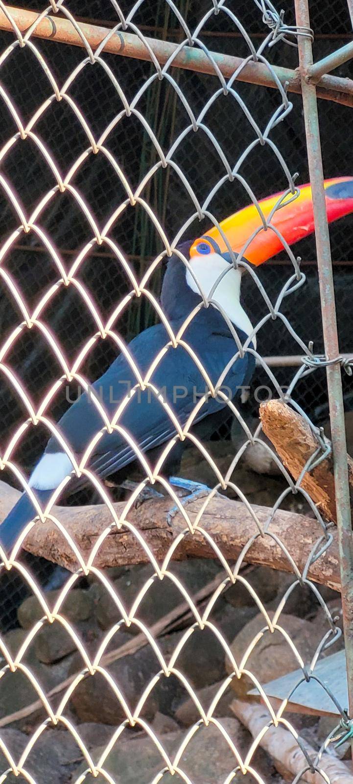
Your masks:
[[[234,742],[236,749],[242,757],[245,757],[251,743],[250,734],[235,718],[222,719],[221,723]],[[185,731],[168,732],[163,736],[163,747],[171,760],[185,737]],[[102,746],[92,750],[92,758],[95,762],[99,760],[103,750]],[[258,749],[251,764],[254,765],[264,781],[272,780],[275,770],[265,752]],[[209,724],[208,727],[200,726],[189,740],[178,762],[178,767],[189,779],[182,778],[178,774],[171,777],[167,772],[161,779],[158,779],[160,784],[182,784],[186,780],[193,782],[193,784],[224,784],[229,773],[236,767],[236,759],[218,727]],[[86,768],[86,764],[81,764],[77,768],[75,771],[77,778]],[[152,739],[146,735],[128,741],[124,741],[124,735],[122,735],[104,763],[104,770],[110,774],[115,784],[136,784],[136,782],[150,784],[154,777],[157,777],[158,772],[163,771],[164,768],[164,758],[161,757]],[[243,778],[243,775],[240,774],[239,779],[233,778],[232,782],[240,784],[243,782]],[[106,782],[106,777],[99,775],[93,779],[88,775],[85,784],[93,784],[93,782],[103,784]]]

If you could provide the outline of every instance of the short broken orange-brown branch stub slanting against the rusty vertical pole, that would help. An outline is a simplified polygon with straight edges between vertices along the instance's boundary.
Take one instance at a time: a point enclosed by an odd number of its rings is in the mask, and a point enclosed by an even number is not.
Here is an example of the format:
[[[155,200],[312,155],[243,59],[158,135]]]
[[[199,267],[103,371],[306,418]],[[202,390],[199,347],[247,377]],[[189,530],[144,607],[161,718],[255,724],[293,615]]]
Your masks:
[[[280,400],[261,403],[260,418],[265,435],[297,481],[305,463],[318,448],[311,428],[300,414]],[[353,508],[353,459],[349,455],[347,463]],[[319,463],[309,474],[304,474],[301,487],[315,501],[326,520],[337,523],[332,456]]]

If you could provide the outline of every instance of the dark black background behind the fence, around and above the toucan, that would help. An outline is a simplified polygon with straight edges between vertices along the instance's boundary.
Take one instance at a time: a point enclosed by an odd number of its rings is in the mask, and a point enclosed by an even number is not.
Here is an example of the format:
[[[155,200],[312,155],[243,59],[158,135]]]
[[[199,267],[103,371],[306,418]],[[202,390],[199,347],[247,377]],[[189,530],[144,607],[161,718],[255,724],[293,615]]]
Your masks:
[[[34,0],[23,2],[22,5],[27,9],[36,10],[45,7]],[[287,23],[294,24],[294,4],[291,0],[290,2],[286,0],[286,3],[282,3],[281,7],[283,5],[286,9]],[[315,31],[315,59],[319,59],[351,39],[351,23],[344,0],[336,0],[336,2],[328,2],[328,0],[314,0],[313,2],[312,0],[310,5],[312,27]],[[80,2],[70,2],[67,7],[77,19],[96,21],[97,24],[106,24],[108,27],[117,22],[116,13],[108,0],[99,0],[99,2],[98,0],[89,0],[89,2],[80,0]],[[201,2],[200,0],[189,0],[189,2],[188,0],[180,0],[178,2],[178,8],[182,11],[191,30],[210,7],[211,0],[201,0]],[[125,3],[123,5],[125,12],[129,8],[131,8],[131,4]],[[229,2],[229,8],[233,13],[238,14],[254,43],[259,44],[261,38],[264,37],[264,31],[267,33],[260,10],[250,2]],[[162,0],[144,2],[134,16],[134,23],[150,37],[167,38],[177,42],[183,37],[178,20]],[[218,13],[217,16],[211,17],[204,27],[201,40],[214,51],[236,56],[247,56],[248,54],[247,45],[242,35],[225,13]],[[68,74],[85,57],[85,50],[78,47],[38,39],[33,39],[33,41],[45,56],[59,85],[63,85]],[[5,49],[11,42],[13,42],[12,34],[0,32],[0,49]],[[267,49],[265,54],[274,64],[297,67],[297,49],[283,45],[281,42],[270,51]],[[128,100],[131,100],[141,85],[154,72],[153,64],[147,62],[110,54],[104,54],[103,59],[112,69],[128,96]],[[216,79],[204,74],[193,74],[190,71],[178,71],[178,69],[173,69],[172,73],[197,115],[207,102],[208,97],[217,88]],[[345,64],[337,69],[336,73],[341,76],[348,75],[349,65]],[[5,60],[1,68],[0,80],[12,96],[23,123],[31,118],[38,106],[52,93],[51,85],[27,46],[24,49],[17,47]],[[280,103],[277,91],[240,82],[236,83],[236,89],[260,126],[265,127],[268,118]],[[88,65],[81,71],[74,84],[71,85],[69,94],[80,107],[95,139],[122,107],[121,100],[105,71],[96,65],[95,67]],[[272,131],[271,138],[282,152],[290,172],[299,172],[297,182],[305,183],[308,181],[308,165],[301,96],[290,94],[290,100],[294,104],[293,111],[283,123]],[[189,124],[185,109],[179,102],[174,89],[166,80],[153,82],[139,103],[139,111],[142,111],[150,127],[156,133],[164,151],[171,147],[171,143],[178,133]],[[353,115],[351,109],[321,100],[319,112],[322,156],[326,177],[353,176],[351,133]],[[242,112],[237,109],[234,101],[229,101],[221,96],[207,114],[207,123],[225,151],[229,162],[234,165],[247,144],[254,138],[254,132],[250,129],[247,120],[243,118]],[[78,155],[88,147],[87,136],[82,131],[72,109],[64,101],[52,102],[49,110],[35,126],[35,131],[49,147],[52,157],[56,160],[59,171],[62,173],[67,172]],[[1,145],[14,132],[16,132],[16,126],[13,118],[9,111],[3,108],[2,125],[0,126]],[[150,143],[149,136],[142,128],[141,123],[133,117],[124,118],[117,125],[110,134],[106,146],[121,165],[121,169],[133,188],[157,161],[157,155]],[[178,148],[175,160],[189,181],[193,183],[193,189],[200,201],[206,197],[214,183],[224,173],[211,142],[201,131],[191,132],[186,136]],[[40,201],[43,194],[55,185],[52,172],[31,140],[16,141],[5,157],[2,172],[12,183],[26,215]],[[244,163],[241,174],[258,198],[287,187],[286,177],[268,147],[255,147],[254,152]],[[73,183],[90,205],[99,227],[103,227],[113,209],[125,198],[125,192],[116,173],[102,154],[90,154],[74,176]],[[185,188],[175,172],[169,167],[167,170],[158,170],[149,186],[143,191],[143,197],[159,216],[169,238],[177,233],[187,216],[193,212],[193,205]],[[239,183],[227,182],[214,198],[212,210],[218,220],[222,220],[230,212],[245,205],[247,201],[247,194]],[[1,244],[5,242],[17,225],[18,218],[2,191],[0,194]],[[49,207],[41,214],[39,225],[50,235],[67,269],[85,242],[92,238],[92,229],[68,193],[56,194]],[[195,222],[189,227],[188,236],[190,238],[197,237],[208,226],[208,221],[204,221],[201,225]],[[353,351],[351,334],[352,229],[353,216],[349,216],[333,225],[331,230],[340,350],[344,352]],[[146,212],[139,206],[128,207],[121,219],[115,223],[110,235],[129,257],[137,278],[141,278],[150,260],[162,248],[153,224],[146,216]],[[305,343],[313,340],[315,351],[320,353],[323,350],[322,326],[313,238],[302,241],[295,247],[294,252],[302,257],[302,269],[307,275],[307,285],[288,297],[283,303],[282,310],[289,318],[297,335],[304,339]],[[16,279],[16,284],[20,287],[23,298],[30,309],[59,277],[49,254],[33,233],[20,234],[16,248],[5,258],[4,267]],[[272,302],[276,302],[276,296],[290,277],[291,272],[292,268],[285,254],[277,257],[275,262],[260,268],[259,276],[261,281],[265,283],[265,288]],[[85,283],[87,289],[92,293],[103,321],[131,288],[120,263],[107,247],[102,249],[95,245],[84,265],[81,266],[77,277]],[[151,279],[150,286],[153,290],[159,291],[159,270]],[[267,309],[254,285],[247,286],[245,299],[252,321],[257,322],[267,312]],[[116,322],[115,328],[124,339],[128,340],[140,329],[152,323],[153,318],[154,314],[146,299],[139,299],[124,310]],[[8,289],[0,282],[2,340],[5,340],[5,337],[19,321],[18,307],[13,302],[12,296],[9,295]],[[50,326],[52,332],[55,332],[56,339],[69,361],[77,356],[78,350],[95,332],[95,324],[89,316],[87,308],[83,307],[74,286],[61,289],[59,295],[52,299],[49,307],[45,309],[45,323]],[[258,336],[258,350],[264,356],[301,354],[301,348],[280,321],[270,321],[261,330]],[[83,368],[85,375],[89,379],[96,379],[110,365],[115,356],[116,347],[113,343],[109,339],[99,340],[85,363]],[[41,400],[45,391],[51,387],[53,380],[61,374],[61,369],[56,359],[53,358],[52,351],[49,350],[41,333],[35,328],[23,332],[20,339],[17,339],[13,345],[6,361],[30,392],[34,404]],[[279,383],[283,384],[289,383],[295,372],[297,372],[297,368],[276,368],[275,370],[276,378]],[[264,371],[259,369],[254,377],[253,386],[256,387],[262,383],[268,384],[268,377]],[[345,392],[348,394],[350,389],[351,379],[344,377]],[[72,394],[75,394],[74,389]],[[325,407],[326,405],[325,371],[319,369],[307,378],[301,379],[294,390],[294,397],[313,419],[318,419],[318,406]],[[346,402],[349,406],[349,396]],[[50,415],[57,419],[66,405],[63,394],[61,397],[59,395],[50,408]],[[23,405],[5,376],[2,376],[0,384],[0,416],[2,421],[0,448],[3,453],[9,437],[26,416]],[[226,436],[226,431],[222,431],[222,435]],[[27,430],[15,456],[16,461],[25,470],[31,470],[46,439],[47,434],[40,427],[30,427]],[[4,476],[4,478],[13,481],[13,477]]]

